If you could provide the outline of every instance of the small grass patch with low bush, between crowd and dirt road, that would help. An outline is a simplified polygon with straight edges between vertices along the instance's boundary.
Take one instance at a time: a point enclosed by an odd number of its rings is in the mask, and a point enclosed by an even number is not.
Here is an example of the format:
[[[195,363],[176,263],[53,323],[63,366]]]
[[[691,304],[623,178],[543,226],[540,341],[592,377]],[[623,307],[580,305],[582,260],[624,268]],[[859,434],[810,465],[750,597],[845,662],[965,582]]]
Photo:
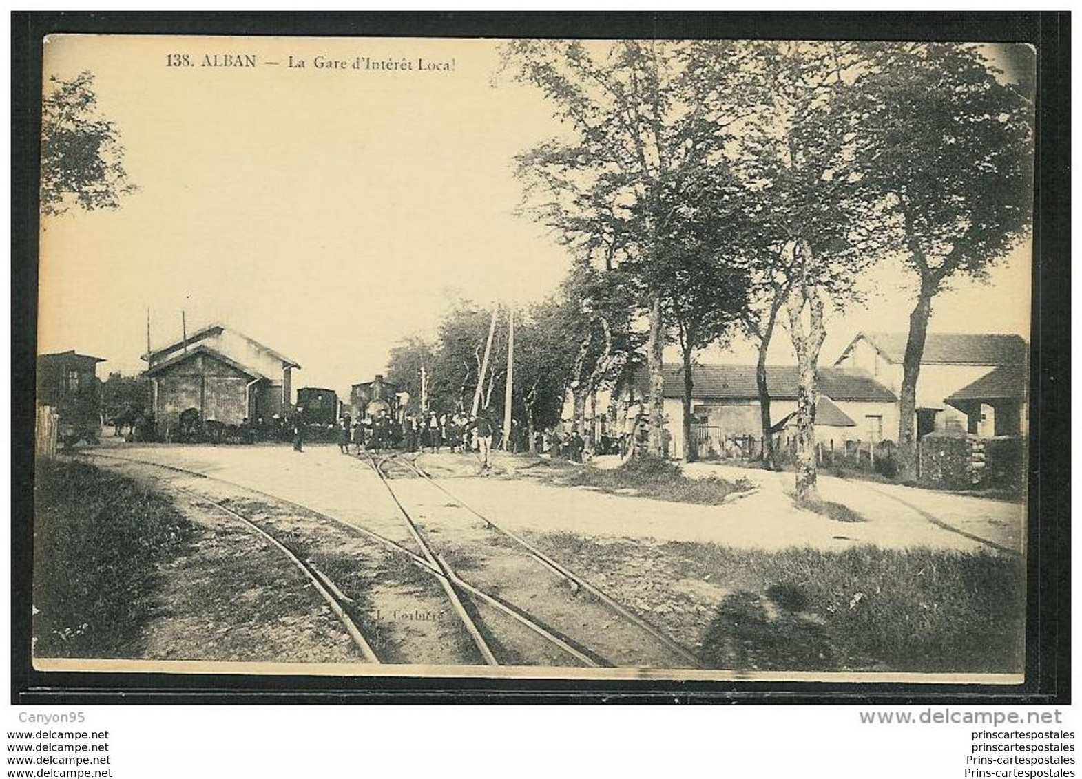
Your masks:
[[[547,473],[554,482],[568,486],[589,486],[604,493],[631,493],[644,498],[707,506],[720,503],[733,493],[751,488],[747,479],[735,482],[720,476],[688,479],[681,473],[679,466],[654,458],[635,458],[610,470],[568,464],[566,470],[553,468]]]

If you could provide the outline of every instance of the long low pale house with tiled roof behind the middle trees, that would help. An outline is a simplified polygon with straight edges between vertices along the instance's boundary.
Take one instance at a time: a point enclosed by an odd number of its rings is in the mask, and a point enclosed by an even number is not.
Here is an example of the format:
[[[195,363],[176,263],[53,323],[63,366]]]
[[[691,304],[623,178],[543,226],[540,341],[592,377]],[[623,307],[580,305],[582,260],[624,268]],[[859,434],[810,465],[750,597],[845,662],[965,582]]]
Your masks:
[[[664,414],[672,436],[670,451],[683,452],[684,366],[667,363]],[[799,374],[795,365],[770,365],[766,370],[770,393],[770,418],[775,433],[786,434],[795,424]],[[754,365],[701,364],[691,368],[691,413],[700,441],[716,448],[731,440],[758,441],[762,421]],[[632,401],[647,397],[647,377],[642,372],[632,390]],[[865,371],[823,367],[819,370],[819,402],[816,405],[816,440],[824,447],[844,447],[846,442],[880,442],[898,429],[898,398]]]

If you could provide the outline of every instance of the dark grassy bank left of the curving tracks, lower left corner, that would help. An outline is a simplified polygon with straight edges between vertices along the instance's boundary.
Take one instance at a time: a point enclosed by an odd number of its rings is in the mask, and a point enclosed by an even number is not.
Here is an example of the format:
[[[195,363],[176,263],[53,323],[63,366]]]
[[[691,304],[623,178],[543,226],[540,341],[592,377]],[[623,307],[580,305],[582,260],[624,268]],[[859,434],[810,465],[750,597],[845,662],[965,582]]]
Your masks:
[[[131,654],[158,566],[181,553],[190,523],[131,479],[82,462],[39,461],[35,493],[35,654]]]

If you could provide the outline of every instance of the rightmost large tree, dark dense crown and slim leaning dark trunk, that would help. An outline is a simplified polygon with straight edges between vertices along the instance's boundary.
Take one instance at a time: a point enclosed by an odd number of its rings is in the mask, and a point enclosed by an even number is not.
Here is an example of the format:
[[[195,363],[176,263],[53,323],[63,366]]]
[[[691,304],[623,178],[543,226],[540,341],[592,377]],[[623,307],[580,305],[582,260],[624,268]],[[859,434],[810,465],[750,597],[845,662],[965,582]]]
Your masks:
[[[981,49],[958,43],[886,44],[856,86],[870,146],[865,184],[889,206],[886,221],[918,280],[898,429],[899,475],[913,480],[933,300],[953,279],[986,278],[1026,237],[1033,104]]]

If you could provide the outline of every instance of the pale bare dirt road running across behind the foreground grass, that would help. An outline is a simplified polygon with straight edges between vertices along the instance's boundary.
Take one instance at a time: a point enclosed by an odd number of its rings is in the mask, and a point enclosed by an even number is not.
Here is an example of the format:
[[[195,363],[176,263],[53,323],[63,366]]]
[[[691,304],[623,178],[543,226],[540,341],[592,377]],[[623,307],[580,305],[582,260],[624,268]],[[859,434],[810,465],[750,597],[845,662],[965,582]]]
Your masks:
[[[383,498],[366,464],[343,456],[333,446],[312,446],[298,454],[285,446],[136,445],[115,453],[227,479],[334,516],[370,523],[373,530],[393,538],[408,539],[401,520],[386,506],[373,512],[373,500]],[[700,541],[765,550],[837,550],[855,543],[889,549],[988,549],[976,540],[980,538],[1020,551],[1024,543],[1024,506],[826,475],[819,476],[822,497],[848,506],[863,521],[840,522],[795,508],[788,495],[792,474],[730,466],[694,464],[686,472],[734,480],[743,476],[758,485],[758,491],[724,506],[696,506],[606,495],[586,487],[466,475],[475,470],[469,456],[422,455],[418,464],[481,513],[512,529],[536,533]],[[453,478],[445,481],[441,473]]]

